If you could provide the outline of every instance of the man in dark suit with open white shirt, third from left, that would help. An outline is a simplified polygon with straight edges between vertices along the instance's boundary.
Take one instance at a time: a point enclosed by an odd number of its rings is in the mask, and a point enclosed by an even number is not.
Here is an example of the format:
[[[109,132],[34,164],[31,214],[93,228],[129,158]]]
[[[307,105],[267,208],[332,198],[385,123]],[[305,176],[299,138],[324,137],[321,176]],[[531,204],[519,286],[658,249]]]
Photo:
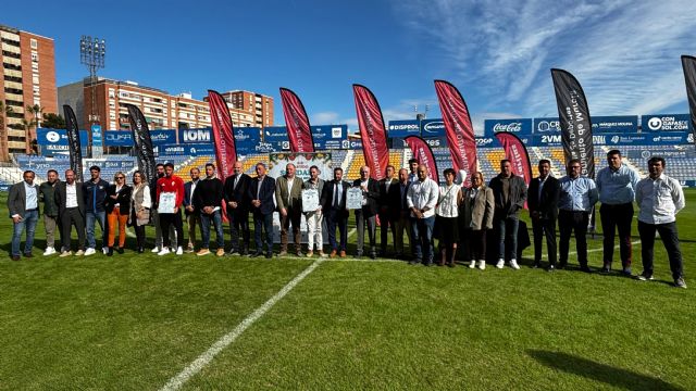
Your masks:
[[[71,229],[77,230],[77,252],[75,255],[85,254],[85,198],[82,185],[75,181],[75,172],[65,171],[65,181],[58,184],[54,192],[58,216],[63,231],[63,249],[60,256],[72,255]]]

